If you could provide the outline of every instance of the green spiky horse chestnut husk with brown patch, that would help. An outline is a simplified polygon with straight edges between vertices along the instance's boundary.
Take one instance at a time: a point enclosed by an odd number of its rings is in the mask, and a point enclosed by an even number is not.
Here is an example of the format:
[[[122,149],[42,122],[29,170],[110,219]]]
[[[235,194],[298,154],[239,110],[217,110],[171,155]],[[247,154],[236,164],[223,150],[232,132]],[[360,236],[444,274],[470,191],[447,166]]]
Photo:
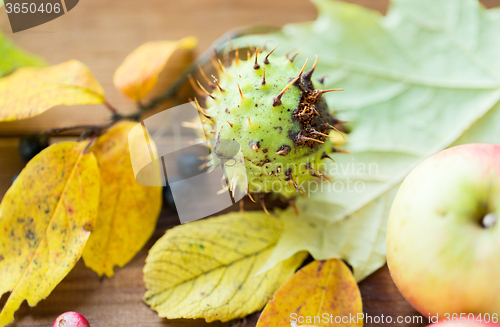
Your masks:
[[[197,101],[196,105],[207,118],[205,134],[214,139],[214,147],[224,144],[218,140],[240,145],[247,183],[242,185],[238,178],[243,171],[232,172],[227,176],[231,189],[240,187],[259,195],[276,192],[291,198],[305,191],[304,182],[327,179],[320,162],[335,151],[329,132],[342,121],[332,116],[323,98],[334,90],[315,89],[319,82],[312,74],[317,58],[312,69],[304,72],[307,61],[298,69],[294,57],[274,56],[273,51],[259,58],[257,49],[249,52],[246,61],[236,51],[229,67],[215,60],[218,79],[205,78],[207,87],[197,82],[199,93],[205,92],[206,109]],[[212,150],[212,156],[220,152]]]

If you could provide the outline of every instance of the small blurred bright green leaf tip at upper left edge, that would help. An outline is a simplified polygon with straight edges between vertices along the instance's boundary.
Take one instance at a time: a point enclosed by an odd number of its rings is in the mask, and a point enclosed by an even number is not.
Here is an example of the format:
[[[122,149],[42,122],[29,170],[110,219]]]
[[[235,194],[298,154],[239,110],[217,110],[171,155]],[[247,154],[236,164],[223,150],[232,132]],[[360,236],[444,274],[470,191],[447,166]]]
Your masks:
[[[3,1],[0,0],[0,8],[3,5]],[[11,40],[6,38],[0,32],[0,77],[12,73],[19,67],[23,66],[33,66],[33,67],[43,67],[47,63],[20,48],[16,47]]]

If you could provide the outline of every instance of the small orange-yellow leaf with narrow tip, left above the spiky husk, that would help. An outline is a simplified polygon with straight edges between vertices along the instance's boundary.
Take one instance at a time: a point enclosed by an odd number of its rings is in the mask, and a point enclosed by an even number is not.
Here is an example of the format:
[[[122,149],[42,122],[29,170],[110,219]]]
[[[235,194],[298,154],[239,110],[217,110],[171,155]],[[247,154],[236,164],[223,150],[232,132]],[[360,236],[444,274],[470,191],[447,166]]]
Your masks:
[[[195,37],[144,43],[132,51],[116,70],[113,76],[115,87],[132,100],[141,100],[154,89],[172,54],[179,49],[191,50],[197,43]]]

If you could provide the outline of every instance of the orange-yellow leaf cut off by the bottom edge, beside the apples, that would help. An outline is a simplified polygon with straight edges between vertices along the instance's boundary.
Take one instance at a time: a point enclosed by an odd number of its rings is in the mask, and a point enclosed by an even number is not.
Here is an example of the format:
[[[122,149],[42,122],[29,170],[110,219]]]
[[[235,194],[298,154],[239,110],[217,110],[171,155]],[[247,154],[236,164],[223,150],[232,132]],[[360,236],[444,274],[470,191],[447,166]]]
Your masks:
[[[339,259],[313,261],[300,269],[269,301],[257,327],[290,324],[363,326],[361,294]]]

